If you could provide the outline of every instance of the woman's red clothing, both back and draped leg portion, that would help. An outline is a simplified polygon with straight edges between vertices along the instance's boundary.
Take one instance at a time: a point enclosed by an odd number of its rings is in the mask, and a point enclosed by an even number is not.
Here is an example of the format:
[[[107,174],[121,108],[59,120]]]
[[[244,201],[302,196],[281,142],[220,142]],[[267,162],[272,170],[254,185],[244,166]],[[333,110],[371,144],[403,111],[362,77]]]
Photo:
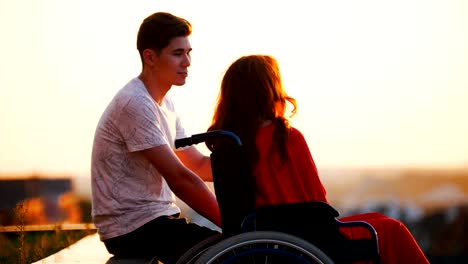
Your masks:
[[[295,202],[327,202],[325,188],[303,135],[291,128],[288,139],[289,159],[283,163],[272,152],[274,125],[262,127],[257,135],[259,161],[254,170],[257,207]],[[381,263],[429,263],[414,237],[400,221],[380,213],[344,217],[341,221],[365,221],[377,232]],[[342,230],[350,238],[363,238],[362,228]]]

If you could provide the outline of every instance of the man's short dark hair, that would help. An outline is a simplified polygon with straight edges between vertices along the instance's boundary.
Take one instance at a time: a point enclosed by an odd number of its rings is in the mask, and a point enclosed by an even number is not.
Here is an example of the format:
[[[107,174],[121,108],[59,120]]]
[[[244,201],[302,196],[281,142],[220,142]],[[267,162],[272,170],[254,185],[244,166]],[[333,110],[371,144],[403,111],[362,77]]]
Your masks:
[[[143,51],[152,49],[159,53],[172,38],[192,33],[192,25],[186,19],[166,12],[156,12],[141,23],[137,36],[137,49],[143,60]]]

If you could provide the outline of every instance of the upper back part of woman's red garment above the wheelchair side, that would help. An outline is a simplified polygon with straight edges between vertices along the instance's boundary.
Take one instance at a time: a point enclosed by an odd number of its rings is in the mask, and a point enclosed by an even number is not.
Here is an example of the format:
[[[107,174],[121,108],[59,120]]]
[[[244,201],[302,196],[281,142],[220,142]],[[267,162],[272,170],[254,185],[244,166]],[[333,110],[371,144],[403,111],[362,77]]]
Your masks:
[[[287,141],[288,159],[282,162],[278,151],[271,151],[275,125],[259,129],[256,137],[259,159],[254,169],[256,206],[311,201],[327,202],[307,142],[291,127]]]

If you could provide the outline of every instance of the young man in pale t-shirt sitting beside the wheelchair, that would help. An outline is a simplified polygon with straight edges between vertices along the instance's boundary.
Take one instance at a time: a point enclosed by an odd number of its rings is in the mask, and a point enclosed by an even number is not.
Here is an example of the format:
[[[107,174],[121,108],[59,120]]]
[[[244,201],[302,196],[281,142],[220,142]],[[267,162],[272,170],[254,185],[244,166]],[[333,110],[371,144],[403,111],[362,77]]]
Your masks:
[[[185,84],[191,24],[158,12],[140,26],[142,72],[112,99],[97,125],[91,176],[93,220],[116,257],[174,263],[186,250],[218,232],[180,218],[177,195],[220,226],[209,157],[194,146],[174,150],[186,137],[166,93]],[[195,174],[196,173],[196,174]],[[198,176],[199,175],[199,176]]]

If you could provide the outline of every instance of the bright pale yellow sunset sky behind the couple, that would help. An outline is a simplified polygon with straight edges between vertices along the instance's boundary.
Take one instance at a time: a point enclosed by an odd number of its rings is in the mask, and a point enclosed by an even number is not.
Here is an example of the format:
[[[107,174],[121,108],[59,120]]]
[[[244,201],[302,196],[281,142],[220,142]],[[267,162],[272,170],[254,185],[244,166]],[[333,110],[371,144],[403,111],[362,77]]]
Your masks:
[[[270,54],[319,169],[468,167],[468,1],[1,0],[0,174],[89,176],[156,11],[193,26],[171,91],[189,133],[206,131],[231,62]]]

